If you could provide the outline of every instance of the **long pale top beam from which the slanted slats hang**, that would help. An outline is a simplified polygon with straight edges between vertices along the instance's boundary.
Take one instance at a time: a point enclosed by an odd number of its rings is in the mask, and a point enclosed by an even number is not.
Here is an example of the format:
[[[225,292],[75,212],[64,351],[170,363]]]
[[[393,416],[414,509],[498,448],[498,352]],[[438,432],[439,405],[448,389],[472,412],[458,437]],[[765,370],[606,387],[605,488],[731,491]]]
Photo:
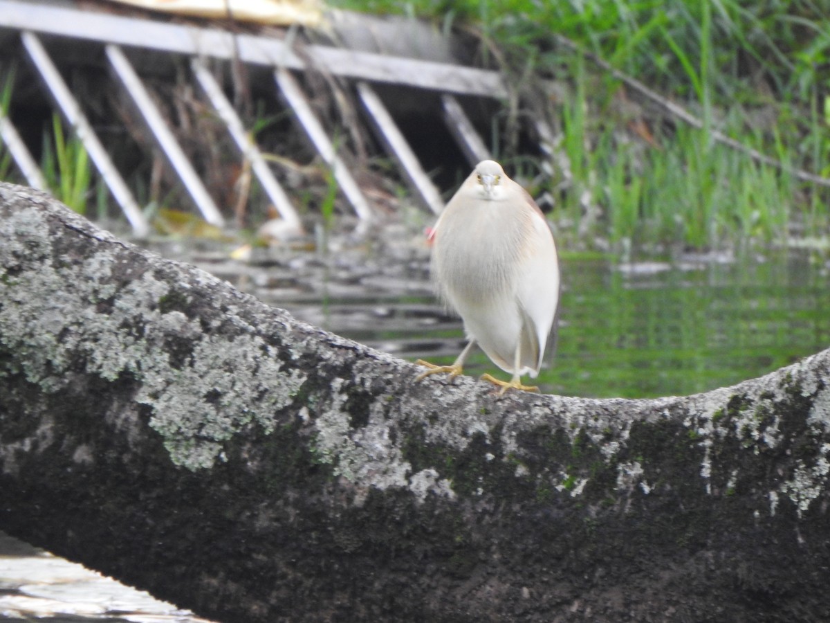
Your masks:
[[[121,46],[143,47],[188,56],[238,59],[261,66],[304,69],[305,62],[281,39],[232,34],[217,28],[183,26],[138,17],[81,11],[19,0],[0,0],[0,28],[17,28]],[[310,65],[334,76],[391,82],[462,95],[507,95],[497,71],[450,63],[419,61],[372,52],[310,45]]]

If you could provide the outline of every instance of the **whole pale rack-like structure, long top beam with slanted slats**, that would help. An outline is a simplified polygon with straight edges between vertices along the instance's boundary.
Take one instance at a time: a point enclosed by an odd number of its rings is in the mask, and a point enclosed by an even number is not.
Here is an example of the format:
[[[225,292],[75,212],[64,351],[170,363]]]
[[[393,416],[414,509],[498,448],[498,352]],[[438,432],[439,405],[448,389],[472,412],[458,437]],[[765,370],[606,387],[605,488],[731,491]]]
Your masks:
[[[134,61],[130,61],[131,55],[152,51],[188,57],[194,83],[227,127],[227,132],[251,165],[253,174],[281,218],[290,222],[299,220],[291,200],[271,172],[256,143],[251,140],[222,86],[207,71],[205,61],[218,59],[242,62],[247,66],[264,67],[271,71],[281,99],[291,109],[296,124],[307,135],[320,158],[331,167],[339,191],[361,219],[373,218],[374,208],[355,181],[353,172],[335,150],[332,138],[327,135],[324,125],[315,115],[295,78],[295,72],[319,71],[354,83],[359,102],[380,142],[397,163],[402,178],[408,182],[413,194],[433,213],[439,213],[443,208],[441,194],[396,125],[393,115],[378,96],[375,86],[402,85],[440,94],[445,127],[430,128],[429,131],[451,135],[470,164],[488,158],[489,152],[457,96],[502,98],[507,95],[504,81],[498,72],[471,66],[319,44],[305,45],[301,53],[298,53],[291,45],[291,37],[283,40],[232,33],[217,27],[183,25],[150,17],[126,17],[95,11],[94,8],[90,10],[90,7],[81,10],[79,7],[50,2],[0,0],[0,43],[14,45],[15,37],[19,38],[22,49],[32,61],[51,100],[56,102],[61,115],[76,130],[76,135],[83,142],[95,168],[120,205],[134,233],[139,236],[149,231],[149,224],[124,178],[110,159],[105,145],[87,120],[79,98],[72,93],[56,66],[54,54],[50,52],[50,44],[53,42],[93,42],[103,47],[111,73],[117,77],[135,109],[139,110],[141,120],[149,128],[177,179],[193,199],[193,204],[208,223],[218,226],[224,224],[222,211],[178,145],[164,116],[154,105]],[[20,139],[12,120],[2,110],[0,138],[28,184],[45,188],[43,175],[35,159]]]

